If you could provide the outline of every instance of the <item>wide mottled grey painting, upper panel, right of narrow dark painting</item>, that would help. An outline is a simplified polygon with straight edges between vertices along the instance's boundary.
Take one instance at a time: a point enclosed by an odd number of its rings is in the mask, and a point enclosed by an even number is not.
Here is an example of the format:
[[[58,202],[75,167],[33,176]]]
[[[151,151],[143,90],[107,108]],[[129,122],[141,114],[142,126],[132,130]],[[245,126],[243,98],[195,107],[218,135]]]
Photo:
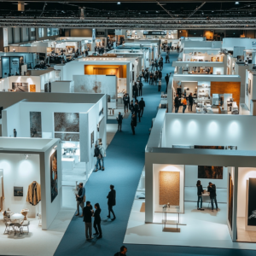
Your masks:
[[[79,132],[79,113],[54,113],[55,131]]]

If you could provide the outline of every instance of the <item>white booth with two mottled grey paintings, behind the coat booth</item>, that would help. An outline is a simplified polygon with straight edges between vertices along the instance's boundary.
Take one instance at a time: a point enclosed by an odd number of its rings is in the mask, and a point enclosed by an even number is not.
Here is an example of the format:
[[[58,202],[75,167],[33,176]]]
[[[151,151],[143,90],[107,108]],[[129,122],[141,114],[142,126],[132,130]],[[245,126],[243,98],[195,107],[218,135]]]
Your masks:
[[[14,137],[15,129],[17,137],[60,138],[62,181],[74,185],[79,178],[85,183],[96,164],[96,143],[100,139],[107,146],[106,95],[16,94],[0,94],[3,137]]]

